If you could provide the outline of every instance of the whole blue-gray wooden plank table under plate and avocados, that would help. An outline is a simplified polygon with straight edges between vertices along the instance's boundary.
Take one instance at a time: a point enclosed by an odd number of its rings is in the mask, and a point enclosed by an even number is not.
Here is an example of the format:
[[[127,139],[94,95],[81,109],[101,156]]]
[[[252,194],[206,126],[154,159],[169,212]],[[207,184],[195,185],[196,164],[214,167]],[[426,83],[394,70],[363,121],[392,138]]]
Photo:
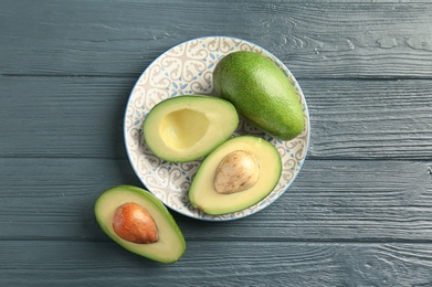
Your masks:
[[[123,140],[139,75],[208,35],[288,66],[309,150],[252,216],[171,211],[187,252],[158,264],[112,242],[93,206],[143,187]],[[431,2],[0,2],[0,286],[432,286],[431,187]]]

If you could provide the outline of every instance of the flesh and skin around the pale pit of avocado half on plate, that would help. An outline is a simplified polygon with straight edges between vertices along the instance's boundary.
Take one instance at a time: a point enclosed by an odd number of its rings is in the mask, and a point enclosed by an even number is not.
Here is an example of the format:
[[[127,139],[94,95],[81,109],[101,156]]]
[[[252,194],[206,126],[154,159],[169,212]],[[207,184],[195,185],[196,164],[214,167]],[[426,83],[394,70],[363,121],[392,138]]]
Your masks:
[[[214,177],[222,159],[230,152],[251,153],[260,166],[257,182],[250,189],[222,194],[215,191]],[[244,210],[264,199],[276,187],[282,172],[277,149],[268,141],[254,136],[239,136],[226,140],[206,157],[189,189],[189,201],[208,214],[225,214]]]

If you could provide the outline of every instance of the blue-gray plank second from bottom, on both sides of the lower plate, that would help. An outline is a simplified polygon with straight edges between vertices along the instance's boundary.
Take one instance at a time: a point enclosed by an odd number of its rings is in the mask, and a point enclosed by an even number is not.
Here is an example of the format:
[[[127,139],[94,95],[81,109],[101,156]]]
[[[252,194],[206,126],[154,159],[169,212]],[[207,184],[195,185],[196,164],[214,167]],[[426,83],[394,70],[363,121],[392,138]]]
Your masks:
[[[141,185],[126,160],[0,159],[0,240],[98,240],[93,206]],[[431,242],[432,162],[309,160],[270,208],[225,223],[172,212],[188,240]],[[265,232],[263,232],[263,228]]]

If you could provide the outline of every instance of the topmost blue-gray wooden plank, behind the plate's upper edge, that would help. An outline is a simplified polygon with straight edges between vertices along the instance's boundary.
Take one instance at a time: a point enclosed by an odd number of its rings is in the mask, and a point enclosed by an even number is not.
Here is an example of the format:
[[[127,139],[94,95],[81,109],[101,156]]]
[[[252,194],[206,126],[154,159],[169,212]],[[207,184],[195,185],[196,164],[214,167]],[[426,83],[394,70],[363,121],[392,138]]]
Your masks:
[[[431,14],[428,2],[7,0],[0,75],[138,76],[167,49],[222,34],[266,47],[297,77],[431,78]]]

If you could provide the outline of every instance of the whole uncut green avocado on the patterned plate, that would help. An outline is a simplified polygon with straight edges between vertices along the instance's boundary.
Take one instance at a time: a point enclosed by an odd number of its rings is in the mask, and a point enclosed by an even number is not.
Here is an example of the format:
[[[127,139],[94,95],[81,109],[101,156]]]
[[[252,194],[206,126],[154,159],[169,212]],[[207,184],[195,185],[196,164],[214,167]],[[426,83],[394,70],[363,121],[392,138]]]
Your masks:
[[[247,51],[224,56],[213,71],[214,92],[251,124],[282,140],[302,134],[303,108],[295,87],[270,59]]]

